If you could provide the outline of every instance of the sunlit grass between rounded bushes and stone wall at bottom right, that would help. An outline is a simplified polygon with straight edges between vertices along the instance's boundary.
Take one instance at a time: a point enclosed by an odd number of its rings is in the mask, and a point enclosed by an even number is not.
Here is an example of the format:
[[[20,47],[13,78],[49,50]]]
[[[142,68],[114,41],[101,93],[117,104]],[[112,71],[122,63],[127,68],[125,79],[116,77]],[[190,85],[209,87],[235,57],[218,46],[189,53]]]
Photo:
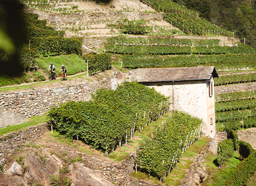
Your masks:
[[[207,165],[207,172],[210,177],[207,177],[201,185],[222,186],[228,180],[234,168],[241,162],[238,157],[238,152],[235,152],[233,157],[219,168],[216,163],[217,156],[208,155],[204,163]]]

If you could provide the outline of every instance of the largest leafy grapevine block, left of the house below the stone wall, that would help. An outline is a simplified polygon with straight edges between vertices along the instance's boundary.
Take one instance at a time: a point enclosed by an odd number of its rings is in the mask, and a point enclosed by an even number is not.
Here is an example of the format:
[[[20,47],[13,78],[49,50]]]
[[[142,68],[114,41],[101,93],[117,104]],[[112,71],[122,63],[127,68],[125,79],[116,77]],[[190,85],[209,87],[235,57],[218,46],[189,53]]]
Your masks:
[[[167,99],[135,82],[99,89],[89,102],[67,102],[49,111],[53,126],[69,138],[108,154],[167,110]]]

